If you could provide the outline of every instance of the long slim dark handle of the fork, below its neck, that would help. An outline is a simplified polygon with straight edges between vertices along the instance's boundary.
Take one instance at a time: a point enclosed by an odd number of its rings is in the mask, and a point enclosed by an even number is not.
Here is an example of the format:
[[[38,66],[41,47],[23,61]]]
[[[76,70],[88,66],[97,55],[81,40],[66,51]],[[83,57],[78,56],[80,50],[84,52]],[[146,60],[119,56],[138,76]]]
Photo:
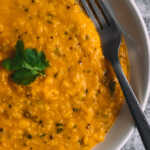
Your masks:
[[[132,114],[135,125],[140,133],[141,139],[146,150],[150,150],[150,125],[142,111],[139,101],[135,96],[129,82],[127,81],[119,61],[112,62],[113,69],[117,75],[120,86],[123,90],[129,110]]]

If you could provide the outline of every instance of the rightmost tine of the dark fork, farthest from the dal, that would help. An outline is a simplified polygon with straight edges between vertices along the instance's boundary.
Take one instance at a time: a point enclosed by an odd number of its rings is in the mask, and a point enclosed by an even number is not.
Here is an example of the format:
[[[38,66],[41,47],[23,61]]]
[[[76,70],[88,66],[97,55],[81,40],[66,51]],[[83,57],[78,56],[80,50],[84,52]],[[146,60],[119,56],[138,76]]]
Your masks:
[[[109,13],[109,10],[107,9],[107,7],[104,4],[104,0],[96,0],[96,3],[102,9],[103,15],[105,16],[109,25],[115,24],[114,19],[112,18],[111,14]]]

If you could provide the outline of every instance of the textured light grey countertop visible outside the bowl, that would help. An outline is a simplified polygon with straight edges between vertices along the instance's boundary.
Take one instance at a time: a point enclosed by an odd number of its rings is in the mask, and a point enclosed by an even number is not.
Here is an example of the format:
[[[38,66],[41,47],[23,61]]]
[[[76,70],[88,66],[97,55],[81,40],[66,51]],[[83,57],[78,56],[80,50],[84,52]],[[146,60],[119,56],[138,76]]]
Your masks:
[[[143,18],[145,20],[150,35],[150,0],[134,0],[134,1],[136,2],[138,8],[140,9],[143,15]],[[147,105],[145,114],[150,122],[150,98],[149,98],[149,103]],[[137,130],[134,131],[134,134],[131,136],[129,141],[121,150],[145,150]]]

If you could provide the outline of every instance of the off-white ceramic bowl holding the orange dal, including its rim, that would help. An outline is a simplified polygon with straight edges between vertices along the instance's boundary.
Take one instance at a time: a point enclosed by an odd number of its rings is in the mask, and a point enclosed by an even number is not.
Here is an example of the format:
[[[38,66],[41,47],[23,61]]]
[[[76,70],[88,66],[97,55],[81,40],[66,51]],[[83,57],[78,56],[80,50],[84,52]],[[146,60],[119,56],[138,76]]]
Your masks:
[[[132,0],[105,0],[124,33],[130,61],[131,86],[144,110],[150,94],[150,41],[144,21]],[[134,122],[125,104],[105,141],[93,150],[120,150],[129,139]]]

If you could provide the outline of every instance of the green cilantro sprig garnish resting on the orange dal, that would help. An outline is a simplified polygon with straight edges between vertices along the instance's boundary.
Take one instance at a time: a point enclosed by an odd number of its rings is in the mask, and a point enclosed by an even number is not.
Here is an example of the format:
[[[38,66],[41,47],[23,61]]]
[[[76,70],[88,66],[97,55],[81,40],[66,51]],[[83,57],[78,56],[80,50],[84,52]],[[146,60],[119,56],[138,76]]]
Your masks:
[[[21,85],[28,85],[38,76],[45,74],[45,69],[49,66],[43,51],[24,48],[22,40],[18,40],[15,46],[15,56],[2,61],[2,66],[8,71],[12,71],[12,80]]]

